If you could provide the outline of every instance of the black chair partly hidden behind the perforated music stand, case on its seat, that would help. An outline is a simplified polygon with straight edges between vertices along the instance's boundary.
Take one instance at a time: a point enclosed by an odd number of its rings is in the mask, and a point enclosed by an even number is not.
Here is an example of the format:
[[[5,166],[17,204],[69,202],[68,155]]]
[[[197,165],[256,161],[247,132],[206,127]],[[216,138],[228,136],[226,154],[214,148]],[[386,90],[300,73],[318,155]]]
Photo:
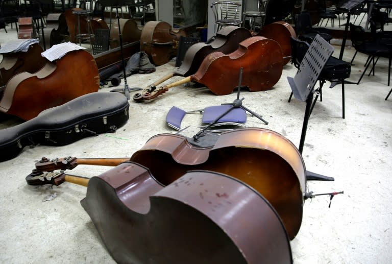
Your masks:
[[[291,60],[297,69],[300,68],[302,59],[305,57],[310,45],[306,41],[301,41],[299,39],[291,37]],[[345,79],[349,78],[351,74],[351,65],[346,61],[339,60],[331,56],[325,66],[323,67],[320,76],[318,77],[318,82],[320,87],[315,89],[316,100],[313,101],[310,113],[313,110],[314,104],[317,101],[318,94],[320,94],[320,101],[323,101],[322,88],[326,81],[331,83],[341,83],[341,99],[342,99],[342,118],[345,118]],[[292,97],[292,92],[288,99],[290,102]]]

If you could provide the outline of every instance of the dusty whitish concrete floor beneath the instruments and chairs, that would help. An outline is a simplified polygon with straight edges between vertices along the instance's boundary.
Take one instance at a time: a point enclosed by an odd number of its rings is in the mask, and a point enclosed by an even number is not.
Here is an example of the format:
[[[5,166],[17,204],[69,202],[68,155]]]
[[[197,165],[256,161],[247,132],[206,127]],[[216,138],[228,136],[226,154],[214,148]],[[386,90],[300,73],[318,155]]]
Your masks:
[[[0,44],[16,37],[0,30]],[[344,60],[354,49],[346,47]],[[334,55],[338,57],[339,46]],[[358,54],[349,80],[357,81],[365,57]],[[132,75],[130,87],[145,87],[174,70],[174,62],[157,67],[156,73]],[[287,102],[287,76],[292,64],[284,66],[273,89],[241,92],[244,106],[261,114],[264,125],[248,117],[247,125],[276,131],[299,146],[305,103]],[[75,77],[77,78],[77,77]],[[165,83],[182,79],[175,77]],[[301,229],[291,249],[295,263],[390,263],[392,259],[392,97],[384,98],[387,61],[380,59],[376,75],[365,76],[359,85],[346,85],[346,118],[341,118],[340,85],[325,86],[323,102],[317,102],[309,120],[303,150],[306,169],[332,176],[333,182],[308,181],[314,193],[344,191],[332,200],[318,196],[307,200]],[[121,83],[124,85],[124,82]],[[120,85],[120,87],[122,87]],[[328,84],[326,84],[328,85]],[[109,92],[103,88],[99,92]],[[131,93],[131,96],[133,92]],[[130,100],[128,123],[115,134],[101,134],[64,147],[25,148],[16,158],[0,163],[0,262],[2,263],[112,263],[114,262],[88,214],[80,205],[86,188],[71,183],[58,187],[32,187],[24,178],[41,157],[75,156],[130,157],[146,140],[160,133],[175,133],[165,123],[171,106],[196,110],[231,103],[236,94],[215,96],[207,88],[177,86],[155,101]],[[200,115],[186,115],[183,125],[198,126]],[[8,118],[0,129],[17,124]],[[93,177],[109,168],[80,165],[71,174]],[[169,170],[169,168],[162,168]],[[53,199],[52,199],[53,198]]]

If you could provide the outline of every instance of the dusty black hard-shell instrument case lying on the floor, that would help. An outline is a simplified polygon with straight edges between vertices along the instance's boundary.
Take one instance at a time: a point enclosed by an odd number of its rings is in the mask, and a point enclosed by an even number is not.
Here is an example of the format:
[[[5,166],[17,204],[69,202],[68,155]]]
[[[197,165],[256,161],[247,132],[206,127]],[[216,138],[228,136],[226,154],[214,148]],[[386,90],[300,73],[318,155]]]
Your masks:
[[[128,111],[123,94],[84,94],[20,125],[0,130],[0,161],[16,157],[26,146],[64,146],[84,137],[115,132],[128,121]]]

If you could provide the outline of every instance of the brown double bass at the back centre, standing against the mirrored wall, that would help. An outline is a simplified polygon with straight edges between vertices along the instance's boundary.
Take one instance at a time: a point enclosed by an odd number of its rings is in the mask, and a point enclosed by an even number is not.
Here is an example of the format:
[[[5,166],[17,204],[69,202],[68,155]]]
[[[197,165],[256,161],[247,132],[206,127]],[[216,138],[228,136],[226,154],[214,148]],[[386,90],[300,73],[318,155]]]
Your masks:
[[[148,21],[140,36],[140,51],[149,55],[157,66],[163,65],[177,55],[180,36],[186,36],[182,29],[172,29],[165,21]]]

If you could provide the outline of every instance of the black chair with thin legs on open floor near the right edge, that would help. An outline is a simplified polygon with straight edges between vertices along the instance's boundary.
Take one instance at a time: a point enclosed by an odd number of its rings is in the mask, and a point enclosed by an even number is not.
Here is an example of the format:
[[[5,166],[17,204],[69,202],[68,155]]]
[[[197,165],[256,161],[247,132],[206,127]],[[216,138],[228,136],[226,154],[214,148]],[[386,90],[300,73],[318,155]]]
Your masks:
[[[390,67],[392,64],[392,41],[382,39],[373,39],[373,40],[364,40],[365,31],[361,26],[356,26],[350,23],[350,35],[351,35],[351,42],[355,49],[355,53],[351,63],[354,61],[355,55],[360,52],[367,55],[367,60],[365,63],[365,69],[362,72],[361,77],[359,78],[357,84],[360,83],[362,80],[363,75],[366,73],[367,68],[369,68],[370,64],[373,63],[372,70],[374,75],[374,69],[376,63],[380,57],[388,58],[389,65],[388,65],[388,86],[390,83]],[[369,74],[370,75],[370,74]]]

